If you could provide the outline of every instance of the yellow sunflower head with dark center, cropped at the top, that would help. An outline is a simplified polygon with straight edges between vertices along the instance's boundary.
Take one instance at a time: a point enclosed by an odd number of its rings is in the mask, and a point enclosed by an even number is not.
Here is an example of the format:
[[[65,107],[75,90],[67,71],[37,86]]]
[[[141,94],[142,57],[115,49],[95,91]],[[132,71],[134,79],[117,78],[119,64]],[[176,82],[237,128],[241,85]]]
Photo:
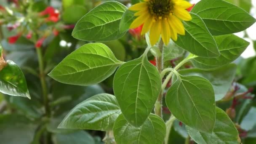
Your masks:
[[[160,35],[165,45],[168,45],[170,38],[176,41],[178,34],[185,35],[181,20],[192,19],[186,10],[191,6],[192,4],[185,0],[144,0],[129,8],[131,11],[137,11],[134,16],[138,16],[130,28],[134,29],[143,24],[141,34],[149,31],[152,45],[157,43]]]

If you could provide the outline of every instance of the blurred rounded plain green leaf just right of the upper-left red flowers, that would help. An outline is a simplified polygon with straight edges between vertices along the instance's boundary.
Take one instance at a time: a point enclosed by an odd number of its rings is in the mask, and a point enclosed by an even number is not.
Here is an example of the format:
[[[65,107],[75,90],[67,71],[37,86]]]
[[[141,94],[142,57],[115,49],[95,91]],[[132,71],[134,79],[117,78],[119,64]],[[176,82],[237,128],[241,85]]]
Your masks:
[[[76,23],[86,13],[86,9],[83,5],[71,5],[65,9],[62,18],[69,24]]]

